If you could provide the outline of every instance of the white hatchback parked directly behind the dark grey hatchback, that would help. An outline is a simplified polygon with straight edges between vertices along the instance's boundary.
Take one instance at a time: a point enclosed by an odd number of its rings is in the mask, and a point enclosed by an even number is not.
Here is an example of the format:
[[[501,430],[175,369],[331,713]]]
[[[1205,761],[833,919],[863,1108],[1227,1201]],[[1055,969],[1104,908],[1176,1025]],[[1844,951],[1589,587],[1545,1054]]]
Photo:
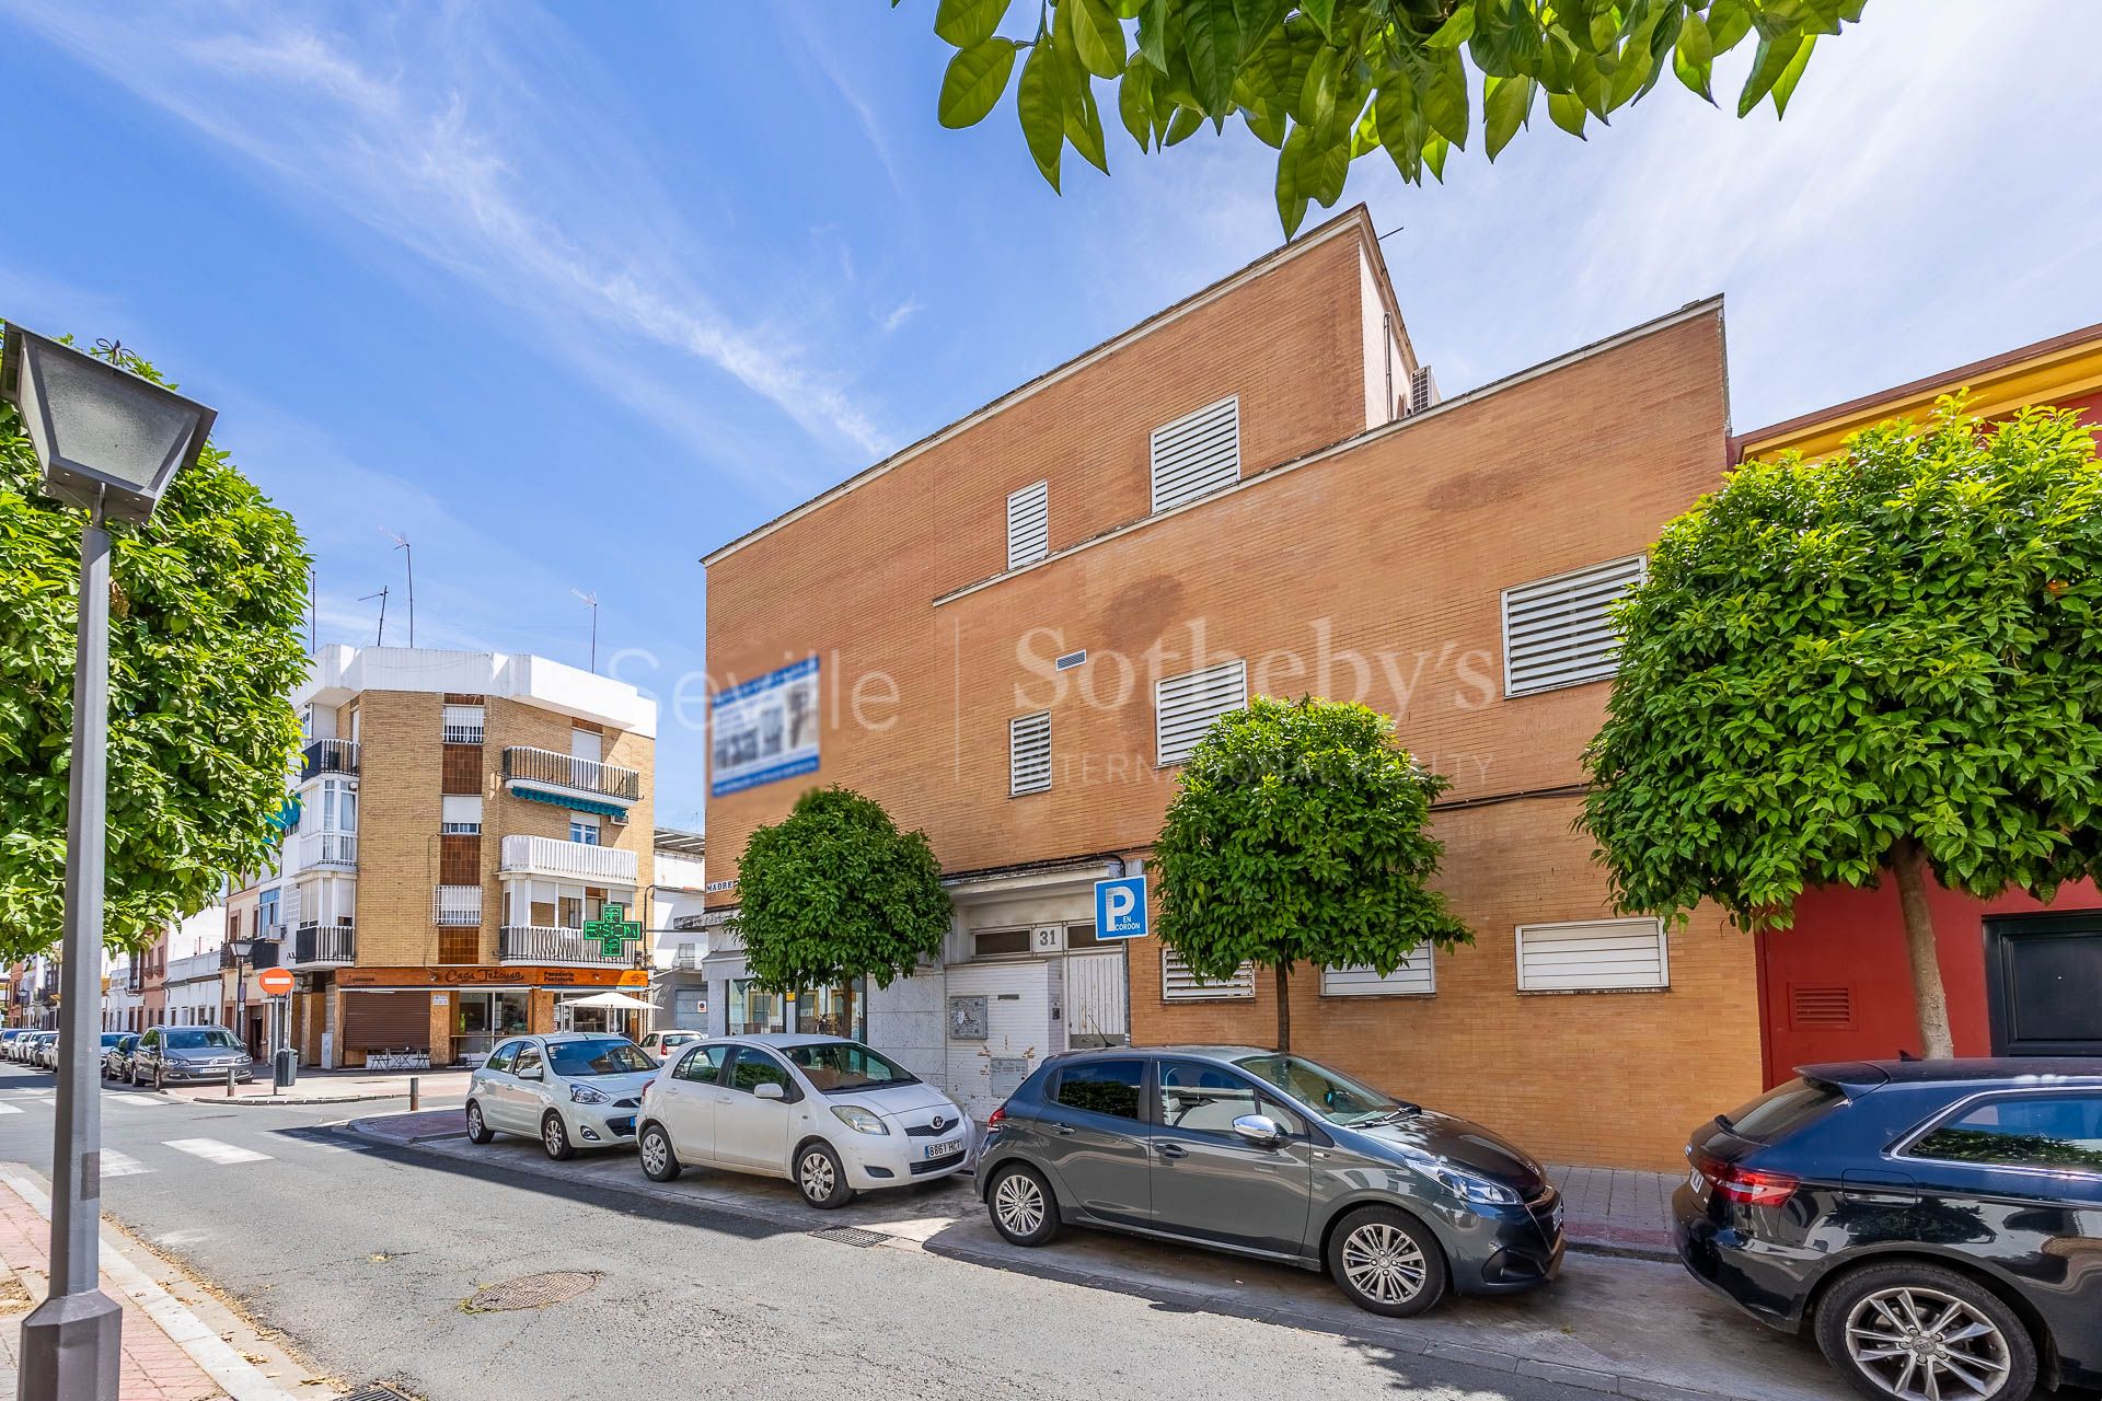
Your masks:
[[[784,1176],[816,1208],[931,1183],[971,1157],[963,1109],[879,1050],[837,1036],[689,1046],[643,1092],[643,1174],[706,1166]]]

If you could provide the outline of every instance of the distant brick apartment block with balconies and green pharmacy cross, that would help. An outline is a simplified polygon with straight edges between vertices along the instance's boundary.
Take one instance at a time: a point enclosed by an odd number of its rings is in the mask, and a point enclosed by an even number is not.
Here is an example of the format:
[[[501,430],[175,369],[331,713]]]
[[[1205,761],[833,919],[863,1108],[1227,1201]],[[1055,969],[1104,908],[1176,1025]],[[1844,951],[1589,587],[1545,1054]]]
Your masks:
[[[324,647],[294,704],[309,741],[252,918],[256,966],[296,975],[305,1063],[624,1025],[561,1004],[647,985],[645,939],[599,933],[614,905],[647,926],[656,702],[547,657]]]

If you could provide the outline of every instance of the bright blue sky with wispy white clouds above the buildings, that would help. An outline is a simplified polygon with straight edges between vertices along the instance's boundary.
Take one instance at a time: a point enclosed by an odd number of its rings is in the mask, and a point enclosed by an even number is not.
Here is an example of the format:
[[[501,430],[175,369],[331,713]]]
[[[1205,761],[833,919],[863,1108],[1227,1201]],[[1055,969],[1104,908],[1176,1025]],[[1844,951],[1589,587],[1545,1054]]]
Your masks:
[[[324,643],[383,584],[408,641],[391,531],[420,645],[584,664],[597,592],[700,825],[698,557],[1278,242],[1246,134],[1057,197],[1011,107],[942,130],[931,15],[0,0],[0,315],[221,410]],[[2102,321],[2096,53],[2102,6],[1879,0],[1778,126],[1667,84],[1345,202],[1446,393],[1726,292],[1751,428]]]

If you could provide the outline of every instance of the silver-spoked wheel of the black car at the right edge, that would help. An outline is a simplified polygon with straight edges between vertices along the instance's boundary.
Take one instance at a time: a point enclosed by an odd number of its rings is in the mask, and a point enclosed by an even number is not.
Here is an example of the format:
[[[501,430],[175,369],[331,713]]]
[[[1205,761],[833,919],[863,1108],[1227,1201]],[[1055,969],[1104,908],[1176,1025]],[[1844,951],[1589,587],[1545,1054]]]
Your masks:
[[[1871,1264],[1818,1302],[1818,1346],[1864,1397],[2018,1401],[2037,1342],[1991,1290],[1934,1264]]]

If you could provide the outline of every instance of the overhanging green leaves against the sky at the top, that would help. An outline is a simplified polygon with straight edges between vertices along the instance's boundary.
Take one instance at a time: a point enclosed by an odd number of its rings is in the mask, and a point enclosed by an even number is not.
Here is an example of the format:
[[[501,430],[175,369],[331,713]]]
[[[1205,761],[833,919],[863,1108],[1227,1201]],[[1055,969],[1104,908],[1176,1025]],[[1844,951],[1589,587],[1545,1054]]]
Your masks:
[[[891,0],[893,4],[898,0]],[[942,126],[982,122],[1015,69],[1015,113],[1036,168],[1059,185],[1070,145],[1108,170],[1095,80],[1154,151],[1240,118],[1278,151],[1278,216],[1333,206],[1349,164],[1383,151],[1413,185],[1480,130],[1488,158],[1547,118],[1583,137],[1665,71],[1711,95],[1715,55],[1755,44],[1738,116],[1780,113],[1810,50],[1867,0],[1038,0],[1026,38],[998,34],[1013,0],[940,0],[956,55]]]

